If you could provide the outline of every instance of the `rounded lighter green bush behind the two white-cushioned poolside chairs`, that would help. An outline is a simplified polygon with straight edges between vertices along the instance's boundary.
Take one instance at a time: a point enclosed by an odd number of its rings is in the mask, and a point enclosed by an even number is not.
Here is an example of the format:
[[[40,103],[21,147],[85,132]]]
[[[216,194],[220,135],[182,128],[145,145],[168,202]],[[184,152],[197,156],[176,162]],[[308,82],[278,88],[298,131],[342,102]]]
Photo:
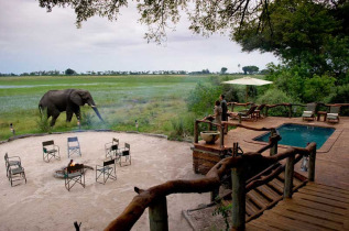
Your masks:
[[[306,102],[323,101],[335,87],[336,79],[329,76],[317,76],[305,80],[304,98]]]

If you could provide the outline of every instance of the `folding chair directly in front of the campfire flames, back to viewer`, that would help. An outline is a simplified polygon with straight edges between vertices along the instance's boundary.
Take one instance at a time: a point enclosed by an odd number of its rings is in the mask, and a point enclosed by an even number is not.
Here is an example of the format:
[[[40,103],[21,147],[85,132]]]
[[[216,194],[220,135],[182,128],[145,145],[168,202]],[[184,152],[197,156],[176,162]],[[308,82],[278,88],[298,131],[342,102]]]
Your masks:
[[[85,188],[85,167],[83,164],[68,166],[64,175],[65,188],[69,191],[78,183]]]

